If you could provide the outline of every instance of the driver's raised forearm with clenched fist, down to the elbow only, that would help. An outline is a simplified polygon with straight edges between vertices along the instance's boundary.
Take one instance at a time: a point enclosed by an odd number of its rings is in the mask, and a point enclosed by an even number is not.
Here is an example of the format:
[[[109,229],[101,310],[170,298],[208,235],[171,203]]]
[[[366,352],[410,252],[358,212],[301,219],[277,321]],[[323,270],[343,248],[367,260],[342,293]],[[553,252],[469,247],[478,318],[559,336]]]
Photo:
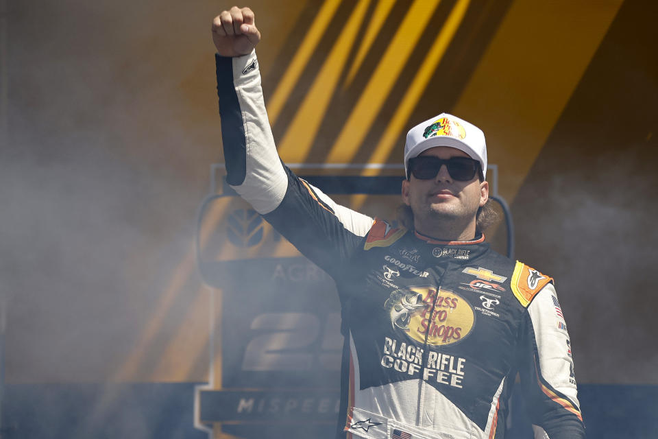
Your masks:
[[[273,211],[286,192],[265,111],[255,47],[260,32],[249,8],[231,8],[212,21],[226,180],[258,213]]]

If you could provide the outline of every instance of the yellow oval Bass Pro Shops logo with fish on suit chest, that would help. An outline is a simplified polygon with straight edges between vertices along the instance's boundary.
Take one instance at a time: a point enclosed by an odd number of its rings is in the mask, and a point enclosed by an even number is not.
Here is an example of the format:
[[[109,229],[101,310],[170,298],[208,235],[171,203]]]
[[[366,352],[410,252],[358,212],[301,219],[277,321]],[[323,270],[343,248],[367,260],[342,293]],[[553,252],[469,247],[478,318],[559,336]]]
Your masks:
[[[444,346],[470,334],[475,313],[458,294],[436,287],[410,287],[391,293],[384,303],[393,329],[417,342]]]

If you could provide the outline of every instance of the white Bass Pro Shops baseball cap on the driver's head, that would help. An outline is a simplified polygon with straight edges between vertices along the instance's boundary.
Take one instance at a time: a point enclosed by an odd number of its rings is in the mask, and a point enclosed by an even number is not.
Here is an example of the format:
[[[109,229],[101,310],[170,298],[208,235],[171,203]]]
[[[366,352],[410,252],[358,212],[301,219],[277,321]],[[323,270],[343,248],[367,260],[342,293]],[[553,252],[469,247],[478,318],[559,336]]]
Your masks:
[[[404,145],[404,172],[409,178],[409,159],[435,146],[450,146],[462,150],[480,162],[482,174],[487,178],[487,143],[485,133],[459,117],[442,112],[432,119],[419,123],[406,133]]]

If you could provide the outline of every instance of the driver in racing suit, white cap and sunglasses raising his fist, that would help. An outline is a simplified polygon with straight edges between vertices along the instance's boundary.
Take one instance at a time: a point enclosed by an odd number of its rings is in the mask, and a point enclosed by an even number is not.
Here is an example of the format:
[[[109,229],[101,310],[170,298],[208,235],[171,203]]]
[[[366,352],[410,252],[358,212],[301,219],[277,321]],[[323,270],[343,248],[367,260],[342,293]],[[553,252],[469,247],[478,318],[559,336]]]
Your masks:
[[[482,131],[442,114],[409,131],[407,228],[334,203],[282,165],[249,8],[212,25],[227,181],[336,281],[345,337],[337,437],[503,438],[517,373],[537,437],[583,438],[552,279],[493,252]]]

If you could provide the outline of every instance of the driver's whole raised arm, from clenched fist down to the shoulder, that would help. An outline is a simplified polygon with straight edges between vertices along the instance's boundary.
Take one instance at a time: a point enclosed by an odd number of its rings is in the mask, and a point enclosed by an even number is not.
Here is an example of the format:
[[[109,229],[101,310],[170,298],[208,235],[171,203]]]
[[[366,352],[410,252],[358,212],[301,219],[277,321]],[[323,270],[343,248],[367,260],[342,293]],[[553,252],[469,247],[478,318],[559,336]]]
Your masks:
[[[255,47],[254,12],[231,8],[212,21],[226,180],[306,257],[328,269],[344,260],[373,220],[334,203],[284,167],[269,126]]]

